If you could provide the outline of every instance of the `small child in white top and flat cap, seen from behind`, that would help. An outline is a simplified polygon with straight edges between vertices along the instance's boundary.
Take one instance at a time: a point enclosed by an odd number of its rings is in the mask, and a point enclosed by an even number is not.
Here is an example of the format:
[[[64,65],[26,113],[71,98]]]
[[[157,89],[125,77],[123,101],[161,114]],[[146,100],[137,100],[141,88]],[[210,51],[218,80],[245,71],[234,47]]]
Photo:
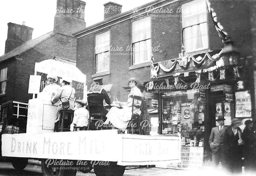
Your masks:
[[[86,102],[83,100],[75,100],[77,110],[74,111],[74,118],[72,124],[70,125],[70,131],[74,128],[79,130],[86,130],[88,126],[89,113],[85,109]]]

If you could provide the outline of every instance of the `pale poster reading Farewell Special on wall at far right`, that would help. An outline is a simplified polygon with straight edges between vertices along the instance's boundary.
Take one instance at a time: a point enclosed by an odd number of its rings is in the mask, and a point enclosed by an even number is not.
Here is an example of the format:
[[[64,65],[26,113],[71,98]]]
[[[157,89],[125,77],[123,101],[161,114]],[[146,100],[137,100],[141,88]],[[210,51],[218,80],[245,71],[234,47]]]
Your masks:
[[[235,93],[236,117],[251,117],[251,95],[249,91]]]

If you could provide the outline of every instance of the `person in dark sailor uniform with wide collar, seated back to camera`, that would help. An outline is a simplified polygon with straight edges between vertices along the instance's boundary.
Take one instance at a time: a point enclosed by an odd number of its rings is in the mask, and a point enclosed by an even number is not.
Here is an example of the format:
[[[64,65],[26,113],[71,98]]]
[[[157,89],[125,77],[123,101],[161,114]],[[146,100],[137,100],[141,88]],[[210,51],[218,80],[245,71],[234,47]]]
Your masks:
[[[90,90],[87,92],[88,96],[88,106],[95,106],[90,111],[90,113],[103,113],[103,121],[106,120],[106,114],[108,113],[108,110],[106,110],[103,106],[103,101],[107,104],[111,104],[110,98],[107,94],[107,92],[103,89],[103,83],[102,83],[102,77],[94,78],[94,84],[90,88]],[[96,107],[97,106],[97,107]]]

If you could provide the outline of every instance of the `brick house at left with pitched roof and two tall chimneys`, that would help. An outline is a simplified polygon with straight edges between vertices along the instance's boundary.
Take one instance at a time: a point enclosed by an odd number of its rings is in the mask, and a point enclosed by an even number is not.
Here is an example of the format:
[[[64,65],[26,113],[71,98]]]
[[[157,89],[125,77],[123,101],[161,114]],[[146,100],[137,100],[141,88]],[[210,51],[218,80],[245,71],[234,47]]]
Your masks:
[[[76,61],[76,38],[72,32],[86,27],[84,7],[79,0],[57,0],[54,29],[31,40],[33,28],[8,23],[5,54],[0,57],[0,104],[16,100],[28,101],[29,75],[34,75],[35,62],[64,58]],[[68,9],[73,9],[68,13]]]

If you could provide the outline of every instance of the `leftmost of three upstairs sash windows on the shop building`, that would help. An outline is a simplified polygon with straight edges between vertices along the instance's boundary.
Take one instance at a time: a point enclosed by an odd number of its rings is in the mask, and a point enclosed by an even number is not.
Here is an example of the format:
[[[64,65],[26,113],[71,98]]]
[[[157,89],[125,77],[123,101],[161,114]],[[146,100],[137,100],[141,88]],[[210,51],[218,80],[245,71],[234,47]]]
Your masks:
[[[103,38],[105,35],[105,38]],[[99,41],[98,41],[99,40]],[[102,40],[102,41],[101,41]],[[103,32],[101,34],[95,35],[95,73],[101,73],[109,71],[110,67],[110,31]],[[108,60],[98,61],[98,57],[106,54]],[[108,68],[98,70],[98,64],[102,62],[108,62]]]

